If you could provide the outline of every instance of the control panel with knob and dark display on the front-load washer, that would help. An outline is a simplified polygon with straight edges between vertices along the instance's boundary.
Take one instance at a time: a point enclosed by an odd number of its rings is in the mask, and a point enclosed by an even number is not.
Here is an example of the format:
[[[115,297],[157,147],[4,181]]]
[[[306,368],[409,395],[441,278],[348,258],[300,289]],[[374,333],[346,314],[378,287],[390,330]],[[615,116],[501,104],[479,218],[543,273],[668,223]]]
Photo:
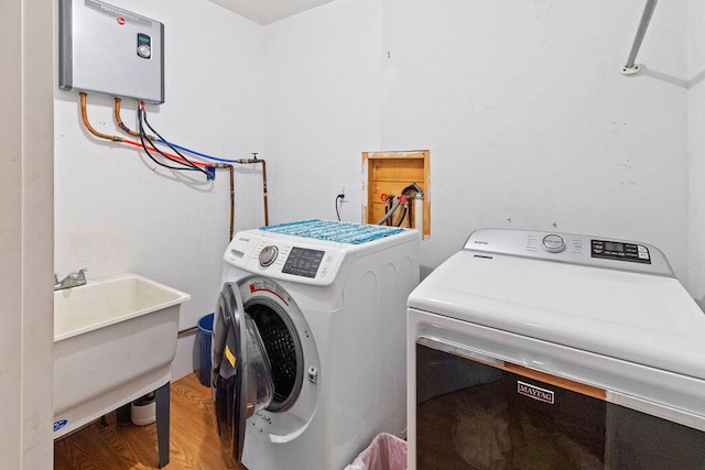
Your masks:
[[[224,260],[234,266],[269,277],[328,285],[340,271],[346,251],[335,243],[306,242],[280,234],[239,232]]]

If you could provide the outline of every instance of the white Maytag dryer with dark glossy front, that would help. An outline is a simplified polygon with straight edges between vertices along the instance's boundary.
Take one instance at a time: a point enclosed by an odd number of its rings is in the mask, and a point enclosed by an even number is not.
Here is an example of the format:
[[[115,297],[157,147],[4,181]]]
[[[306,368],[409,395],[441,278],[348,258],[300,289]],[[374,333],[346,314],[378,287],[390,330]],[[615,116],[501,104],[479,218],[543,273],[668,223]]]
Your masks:
[[[704,468],[705,315],[655,247],[478,230],[408,305],[410,469]]]

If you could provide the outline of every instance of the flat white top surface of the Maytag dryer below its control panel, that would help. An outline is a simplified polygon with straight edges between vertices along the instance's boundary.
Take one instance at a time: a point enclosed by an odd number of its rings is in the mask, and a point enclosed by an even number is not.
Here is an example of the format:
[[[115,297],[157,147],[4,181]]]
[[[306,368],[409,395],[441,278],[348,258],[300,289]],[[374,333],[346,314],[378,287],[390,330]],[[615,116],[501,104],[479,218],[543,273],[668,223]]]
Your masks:
[[[705,379],[705,315],[673,277],[463,250],[408,305]]]

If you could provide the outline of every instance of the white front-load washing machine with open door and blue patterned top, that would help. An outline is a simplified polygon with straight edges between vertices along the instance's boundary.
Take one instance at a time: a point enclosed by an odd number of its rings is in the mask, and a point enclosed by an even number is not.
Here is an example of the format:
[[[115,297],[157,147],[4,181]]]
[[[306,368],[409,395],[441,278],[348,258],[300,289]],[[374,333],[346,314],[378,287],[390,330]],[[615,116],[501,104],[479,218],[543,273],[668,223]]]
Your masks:
[[[238,232],[224,260],[212,393],[224,458],[341,469],[405,431],[405,302],[419,232],[306,220]]]

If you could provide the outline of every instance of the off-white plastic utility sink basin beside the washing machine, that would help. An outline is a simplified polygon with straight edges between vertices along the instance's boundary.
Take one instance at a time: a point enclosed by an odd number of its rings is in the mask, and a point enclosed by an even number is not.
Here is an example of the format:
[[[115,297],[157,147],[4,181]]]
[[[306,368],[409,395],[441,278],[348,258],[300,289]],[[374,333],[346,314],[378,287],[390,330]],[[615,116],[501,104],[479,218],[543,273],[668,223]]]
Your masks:
[[[189,298],[130,273],[54,292],[54,438],[171,381]]]

